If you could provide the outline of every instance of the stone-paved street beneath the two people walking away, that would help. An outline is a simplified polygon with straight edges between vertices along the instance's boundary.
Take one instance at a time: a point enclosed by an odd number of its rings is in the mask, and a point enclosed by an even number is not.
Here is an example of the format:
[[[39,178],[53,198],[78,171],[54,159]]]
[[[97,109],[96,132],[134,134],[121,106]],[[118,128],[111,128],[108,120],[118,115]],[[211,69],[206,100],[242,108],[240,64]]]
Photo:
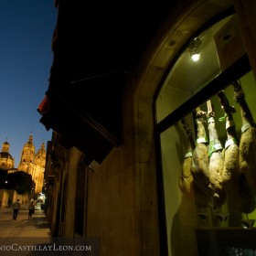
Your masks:
[[[37,205],[32,219],[28,219],[27,207],[21,205],[16,220],[12,208],[0,209],[0,255],[41,255],[35,246],[51,242],[44,211]]]

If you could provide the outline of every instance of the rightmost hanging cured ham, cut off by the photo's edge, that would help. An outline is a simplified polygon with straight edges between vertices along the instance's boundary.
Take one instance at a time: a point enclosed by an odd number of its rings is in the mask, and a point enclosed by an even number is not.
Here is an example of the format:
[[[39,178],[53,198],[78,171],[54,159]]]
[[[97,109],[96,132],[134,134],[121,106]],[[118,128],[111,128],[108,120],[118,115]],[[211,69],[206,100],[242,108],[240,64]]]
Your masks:
[[[240,104],[242,120],[240,137],[240,168],[247,178],[251,191],[256,195],[256,129],[250,108],[245,101],[245,94],[240,81],[233,82],[234,100]]]

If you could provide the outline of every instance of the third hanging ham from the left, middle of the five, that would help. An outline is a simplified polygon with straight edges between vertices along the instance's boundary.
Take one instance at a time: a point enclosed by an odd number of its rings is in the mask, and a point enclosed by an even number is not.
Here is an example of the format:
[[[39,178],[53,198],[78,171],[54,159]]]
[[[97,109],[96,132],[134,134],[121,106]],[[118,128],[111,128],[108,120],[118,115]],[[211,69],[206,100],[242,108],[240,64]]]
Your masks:
[[[209,182],[213,190],[213,205],[215,208],[220,208],[225,200],[226,193],[222,187],[222,173],[224,160],[222,158],[222,145],[219,141],[219,135],[215,124],[215,112],[211,105],[211,101],[207,101],[208,105],[208,173]]]

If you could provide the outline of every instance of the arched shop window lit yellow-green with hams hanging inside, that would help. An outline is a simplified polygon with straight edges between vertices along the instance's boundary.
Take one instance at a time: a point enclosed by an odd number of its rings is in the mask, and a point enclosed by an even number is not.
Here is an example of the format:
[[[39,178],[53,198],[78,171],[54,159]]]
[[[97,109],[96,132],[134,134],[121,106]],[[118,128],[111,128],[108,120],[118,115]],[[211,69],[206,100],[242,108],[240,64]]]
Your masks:
[[[197,65],[187,82],[179,67],[187,48],[155,102],[156,126],[170,123],[159,133],[169,255],[256,255],[256,82],[248,69],[228,75],[203,100],[197,95],[245,54],[239,42],[235,53],[223,57],[227,45],[217,38],[234,32],[233,20],[229,16],[198,36],[210,34],[208,71],[198,75]],[[230,37],[240,41],[237,31]],[[203,53],[201,48],[200,59]],[[182,108],[187,101],[194,107]]]

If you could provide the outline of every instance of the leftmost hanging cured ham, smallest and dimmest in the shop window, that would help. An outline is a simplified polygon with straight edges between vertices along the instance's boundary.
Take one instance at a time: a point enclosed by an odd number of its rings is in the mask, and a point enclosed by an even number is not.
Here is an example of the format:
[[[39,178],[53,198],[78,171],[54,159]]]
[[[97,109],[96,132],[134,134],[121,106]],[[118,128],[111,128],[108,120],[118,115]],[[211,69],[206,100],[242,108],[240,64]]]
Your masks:
[[[178,185],[186,197],[190,198],[197,205],[197,207],[207,208],[211,198],[209,195],[205,195],[200,188],[197,187],[191,174],[192,155],[195,148],[193,134],[189,128],[186,118],[182,119],[181,123],[185,132],[187,133],[187,152],[180,172]]]

